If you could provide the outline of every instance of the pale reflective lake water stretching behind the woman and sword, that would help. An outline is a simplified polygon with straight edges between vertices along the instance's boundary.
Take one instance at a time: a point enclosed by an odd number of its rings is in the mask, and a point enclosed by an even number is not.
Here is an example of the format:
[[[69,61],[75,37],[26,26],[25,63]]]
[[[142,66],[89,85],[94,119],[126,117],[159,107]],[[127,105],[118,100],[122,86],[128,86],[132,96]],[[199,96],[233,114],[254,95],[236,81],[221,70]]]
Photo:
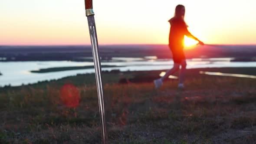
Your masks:
[[[256,67],[256,62],[231,62],[233,58],[188,59],[187,69],[220,68],[220,67]],[[62,72],[31,73],[31,70],[54,67],[87,66],[93,62],[48,61],[48,62],[0,62],[0,86],[31,84],[38,81],[61,79],[63,77],[93,73],[94,69],[79,69]],[[172,59],[157,59],[156,56],[144,58],[112,58],[102,61],[102,65],[116,65],[123,67],[102,68],[102,70],[120,69],[121,71],[150,71],[171,69]]]

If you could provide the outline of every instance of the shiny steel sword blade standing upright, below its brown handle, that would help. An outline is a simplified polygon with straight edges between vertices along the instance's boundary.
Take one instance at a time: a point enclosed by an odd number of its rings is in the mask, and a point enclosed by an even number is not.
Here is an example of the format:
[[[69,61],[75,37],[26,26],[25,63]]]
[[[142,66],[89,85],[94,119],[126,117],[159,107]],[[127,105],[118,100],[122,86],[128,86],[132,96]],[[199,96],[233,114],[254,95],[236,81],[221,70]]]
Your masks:
[[[100,56],[98,52],[98,38],[96,33],[95,19],[94,16],[87,16],[90,38],[92,43],[92,56],[95,67],[95,77],[97,84],[97,92],[98,92],[98,106],[100,112],[101,119],[101,130],[102,130],[102,142],[103,144],[107,141],[107,131],[106,131],[106,123],[105,123],[105,109],[104,109],[104,96],[103,96],[103,85],[102,85],[102,69],[100,63]]]

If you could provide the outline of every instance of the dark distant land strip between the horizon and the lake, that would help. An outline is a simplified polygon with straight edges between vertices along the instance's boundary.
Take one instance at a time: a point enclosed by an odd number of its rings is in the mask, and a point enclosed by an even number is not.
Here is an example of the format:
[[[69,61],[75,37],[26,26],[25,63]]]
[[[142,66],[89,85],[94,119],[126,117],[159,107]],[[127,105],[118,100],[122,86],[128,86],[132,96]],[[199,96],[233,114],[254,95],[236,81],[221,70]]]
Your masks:
[[[172,58],[167,45],[106,45],[99,46],[103,61],[112,57],[157,56],[158,59]],[[191,58],[235,57],[238,61],[251,61],[255,57],[256,46],[249,45],[205,45],[186,49]],[[9,61],[92,61],[91,46],[0,46],[0,62]],[[254,60],[255,61],[255,60]]]

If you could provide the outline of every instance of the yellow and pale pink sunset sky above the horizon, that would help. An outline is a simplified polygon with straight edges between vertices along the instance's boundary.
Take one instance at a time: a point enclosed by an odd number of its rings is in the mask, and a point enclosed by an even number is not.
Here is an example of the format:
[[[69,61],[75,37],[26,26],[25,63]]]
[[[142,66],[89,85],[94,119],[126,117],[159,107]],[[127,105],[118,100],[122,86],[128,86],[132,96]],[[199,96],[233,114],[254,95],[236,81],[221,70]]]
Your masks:
[[[177,4],[204,43],[256,44],[256,0],[154,1],[94,0],[99,44],[167,44]],[[0,0],[0,45],[89,45],[84,9],[84,0]]]

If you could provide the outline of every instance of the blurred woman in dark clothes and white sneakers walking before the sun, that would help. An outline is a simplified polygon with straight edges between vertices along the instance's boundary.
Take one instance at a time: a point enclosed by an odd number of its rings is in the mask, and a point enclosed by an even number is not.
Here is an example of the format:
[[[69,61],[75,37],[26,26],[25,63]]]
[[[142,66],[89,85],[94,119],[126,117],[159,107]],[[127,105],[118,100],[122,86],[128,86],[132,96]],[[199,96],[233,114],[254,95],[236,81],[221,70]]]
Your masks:
[[[161,79],[154,80],[155,88],[160,88],[163,85],[164,79],[167,79],[169,75],[174,74],[177,70],[180,69],[181,71],[179,76],[179,84],[178,88],[184,88],[184,74],[186,70],[186,58],[184,55],[184,36],[190,37],[195,39],[199,42],[200,45],[203,45],[199,39],[193,36],[187,30],[187,24],[184,21],[185,16],[185,7],[183,5],[177,5],[175,8],[174,17],[169,20],[171,24],[170,34],[169,34],[169,47],[172,52],[174,66],[172,69],[168,70],[166,74]]]

